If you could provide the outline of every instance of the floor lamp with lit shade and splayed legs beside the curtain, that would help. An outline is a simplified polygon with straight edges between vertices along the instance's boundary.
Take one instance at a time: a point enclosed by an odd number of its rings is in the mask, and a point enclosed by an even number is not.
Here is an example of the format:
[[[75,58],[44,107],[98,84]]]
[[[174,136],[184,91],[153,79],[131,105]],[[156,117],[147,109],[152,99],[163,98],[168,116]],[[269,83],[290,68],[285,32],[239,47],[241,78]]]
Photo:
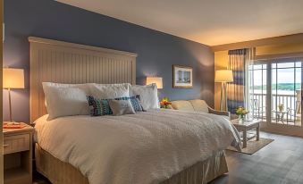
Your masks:
[[[232,71],[230,70],[215,71],[215,82],[221,82],[220,110],[223,111],[223,106],[224,106],[225,111],[227,111],[226,83],[233,82]]]

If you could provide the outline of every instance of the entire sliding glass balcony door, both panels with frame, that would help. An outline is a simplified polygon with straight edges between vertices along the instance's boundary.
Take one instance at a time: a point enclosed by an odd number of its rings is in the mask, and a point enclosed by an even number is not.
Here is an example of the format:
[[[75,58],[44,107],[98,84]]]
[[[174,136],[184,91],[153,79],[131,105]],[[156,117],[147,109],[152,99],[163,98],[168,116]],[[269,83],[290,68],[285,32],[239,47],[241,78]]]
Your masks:
[[[301,58],[256,62],[249,67],[250,112],[264,121],[265,130],[303,135],[301,110]]]

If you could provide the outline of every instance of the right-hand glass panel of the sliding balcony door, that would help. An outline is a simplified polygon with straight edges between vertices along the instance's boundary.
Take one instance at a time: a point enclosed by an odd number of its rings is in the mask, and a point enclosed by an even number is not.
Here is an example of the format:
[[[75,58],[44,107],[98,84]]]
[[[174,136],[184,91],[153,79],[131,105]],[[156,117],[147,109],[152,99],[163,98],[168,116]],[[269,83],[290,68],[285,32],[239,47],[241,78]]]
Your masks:
[[[271,63],[271,123],[301,126],[301,65],[300,61]]]

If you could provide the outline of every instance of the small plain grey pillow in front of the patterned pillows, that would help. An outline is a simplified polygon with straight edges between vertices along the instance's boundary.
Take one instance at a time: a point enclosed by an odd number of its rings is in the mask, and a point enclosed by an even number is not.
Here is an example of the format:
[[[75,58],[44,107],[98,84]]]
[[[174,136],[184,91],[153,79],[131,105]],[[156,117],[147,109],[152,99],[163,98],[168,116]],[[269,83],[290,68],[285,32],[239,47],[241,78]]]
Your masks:
[[[114,115],[134,114],[130,100],[110,100],[109,105]]]

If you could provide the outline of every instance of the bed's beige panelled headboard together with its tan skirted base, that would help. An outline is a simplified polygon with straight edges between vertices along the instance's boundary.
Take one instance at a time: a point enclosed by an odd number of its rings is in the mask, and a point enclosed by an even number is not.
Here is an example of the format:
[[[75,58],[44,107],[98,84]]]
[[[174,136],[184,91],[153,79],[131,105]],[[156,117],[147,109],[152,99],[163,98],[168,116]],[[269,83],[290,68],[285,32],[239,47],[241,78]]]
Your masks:
[[[42,82],[136,84],[137,54],[84,46],[46,38],[29,37],[30,121],[46,114]],[[54,184],[88,184],[69,163],[35,147],[37,170]],[[223,151],[176,173],[161,184],[203,184],[226,173]]]

